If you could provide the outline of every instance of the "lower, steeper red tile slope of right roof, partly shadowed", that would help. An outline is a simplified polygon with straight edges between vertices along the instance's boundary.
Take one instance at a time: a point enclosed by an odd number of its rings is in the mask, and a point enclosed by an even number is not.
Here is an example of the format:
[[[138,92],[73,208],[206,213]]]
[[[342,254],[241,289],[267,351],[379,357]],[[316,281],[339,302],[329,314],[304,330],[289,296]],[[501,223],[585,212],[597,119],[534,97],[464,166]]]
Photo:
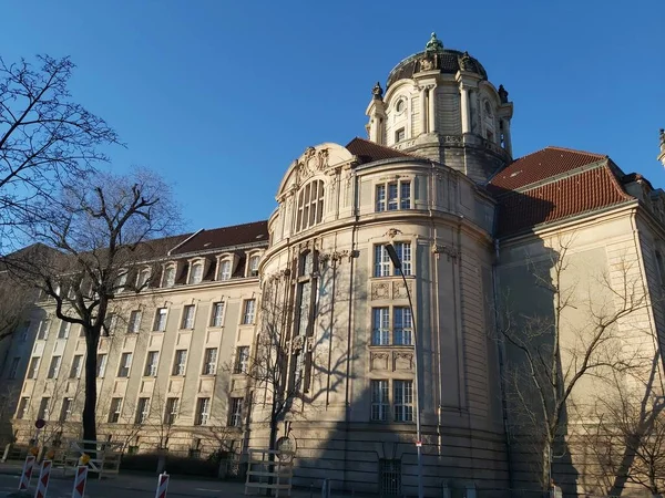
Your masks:
[[[497,237],[535,225],[592,212],[634,198],[621,187],[607,164],[565,176],[523,191],[503,191],[499,200]]]

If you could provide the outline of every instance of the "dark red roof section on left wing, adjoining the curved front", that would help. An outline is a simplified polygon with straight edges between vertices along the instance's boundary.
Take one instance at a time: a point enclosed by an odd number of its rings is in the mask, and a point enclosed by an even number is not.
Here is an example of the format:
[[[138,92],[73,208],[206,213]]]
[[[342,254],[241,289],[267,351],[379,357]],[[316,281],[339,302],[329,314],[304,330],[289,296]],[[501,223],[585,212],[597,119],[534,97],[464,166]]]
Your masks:
[[[184,255],[260,242],[268,243],[268,222],[265,220],[212,230],[201,230],[194,234],[182,246],[175,248],[171,253]]]

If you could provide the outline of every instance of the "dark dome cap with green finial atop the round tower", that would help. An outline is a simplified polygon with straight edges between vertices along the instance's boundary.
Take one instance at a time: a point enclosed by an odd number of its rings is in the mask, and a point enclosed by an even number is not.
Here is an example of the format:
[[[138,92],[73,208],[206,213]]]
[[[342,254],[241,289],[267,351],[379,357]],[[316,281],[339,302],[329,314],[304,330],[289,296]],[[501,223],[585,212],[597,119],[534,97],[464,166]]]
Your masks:
[[[488,73],[477,59],[468,52],[444,49],[443,43],[432,33],[424,51],[408,56],[397,64],[388,75],[386,89],[398,80],[410,79],[416,73],[438,71],[439,73],[456,74],[458,71],[469,71],[479,74],[483,80]]]

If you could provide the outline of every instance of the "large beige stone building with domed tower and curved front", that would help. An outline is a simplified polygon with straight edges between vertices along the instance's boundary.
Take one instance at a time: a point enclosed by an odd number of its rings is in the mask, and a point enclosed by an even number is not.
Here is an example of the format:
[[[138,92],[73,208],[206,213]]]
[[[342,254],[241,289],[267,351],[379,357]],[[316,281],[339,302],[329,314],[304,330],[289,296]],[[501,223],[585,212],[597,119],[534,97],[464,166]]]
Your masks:
[[[501,310],[510,294],[513,312],[554,317],[534,269],[551,279],[562,249],[563,286],[589,304],[559,315],[562,349],[598,309],[622,310],[628,282],[641,305],[612,322],[613,338],[661,372],[663,190],[605,155],[546,147],[513,160],[508,92],[433,34],[375,85],[366,113],[369,139],[294,160],[267,221],[183,236],[155,286],[116,300],[99,353],[100,434],[195,453],[273,436],[296,452],[297,484],[413,495],[419,414],[427,496],[529,487],[542,469],[515,437],[505,374],[519,360],[500,340]],[[81,339],[38,304],[8,353],[25,363],[13,417],[23,439],[40,416],[58,434],[78,428]],[[270,331],[277,392],[247,375]],[[563,372],[571,362],[563,353]],[[571,401],[591,406],[604,388],[585,380]],[[270,427],[275,400],[286,408]],[[574,452],[551,469],[574,492],[597,490],[584,471]]]

